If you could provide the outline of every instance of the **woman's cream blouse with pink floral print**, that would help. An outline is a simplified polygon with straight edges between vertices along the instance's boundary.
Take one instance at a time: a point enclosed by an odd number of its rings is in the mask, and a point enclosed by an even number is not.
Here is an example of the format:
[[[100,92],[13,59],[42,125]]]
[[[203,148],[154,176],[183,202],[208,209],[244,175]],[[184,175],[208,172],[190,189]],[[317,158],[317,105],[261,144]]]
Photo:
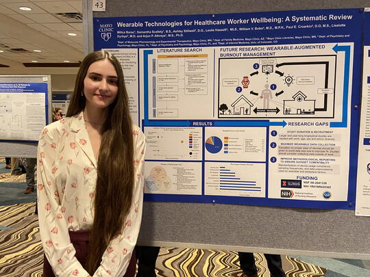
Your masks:
[[[134,196],[119,236],[102,256],[94,276],[123,276],[140,229],[143,208],[145,136],[133,125]],[[38,142],[38,220],[45,255],[56,276],[88,276],[75,258],[69,230],[88,230],[93,224],[97,161],[83,114],[49,124]]]

